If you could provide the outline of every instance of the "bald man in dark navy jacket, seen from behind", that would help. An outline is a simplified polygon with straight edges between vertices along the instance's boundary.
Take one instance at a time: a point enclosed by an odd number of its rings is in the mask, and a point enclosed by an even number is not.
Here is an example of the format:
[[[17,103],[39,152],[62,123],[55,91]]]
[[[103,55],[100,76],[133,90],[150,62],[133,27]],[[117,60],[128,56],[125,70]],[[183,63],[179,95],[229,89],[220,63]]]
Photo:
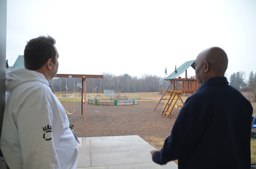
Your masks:
[[[178,159],[179,169],[250,169],[251,103],[228,84],[228,57],[219,47],[197,56],[195,72],[202,84],[182,107],[157,164]]]

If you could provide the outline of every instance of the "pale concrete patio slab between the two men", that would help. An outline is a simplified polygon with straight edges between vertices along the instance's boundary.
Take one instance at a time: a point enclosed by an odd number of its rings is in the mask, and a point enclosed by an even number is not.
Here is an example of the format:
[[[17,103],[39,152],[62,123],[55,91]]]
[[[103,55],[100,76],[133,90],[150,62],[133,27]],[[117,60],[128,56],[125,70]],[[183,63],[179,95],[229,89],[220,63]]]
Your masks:
[[[155,148],[137,135],[78,139],[77,169],[178,169],[173,161],[155,164]]]

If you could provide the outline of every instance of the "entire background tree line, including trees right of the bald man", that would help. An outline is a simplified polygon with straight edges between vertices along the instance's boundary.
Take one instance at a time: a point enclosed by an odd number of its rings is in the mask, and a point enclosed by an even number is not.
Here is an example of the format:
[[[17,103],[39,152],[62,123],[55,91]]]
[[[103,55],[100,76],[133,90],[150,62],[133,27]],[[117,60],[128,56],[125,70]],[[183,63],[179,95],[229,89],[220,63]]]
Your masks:
[[[103,93],[104,89],[114,90],[115,93],[123,92],[164,92],[169,81],[165,81],[163,77],[156,75],[143,75],[140,78],[132,77],[128,74],[113,75],[103,73],[103,79],[86,79],[86,92]],[[227,79],[229,85],[235,87],[240,92],[251,91],[256,101],[256,73],[251,72],[249,79],[245,80],[245,72],[240,71],[230,75]],[[194,77],[194,76],[193,76]],[[50,81],[50,85],[54,92],[79,92],[81,83],[80,78],[59,78],[55,77]]]

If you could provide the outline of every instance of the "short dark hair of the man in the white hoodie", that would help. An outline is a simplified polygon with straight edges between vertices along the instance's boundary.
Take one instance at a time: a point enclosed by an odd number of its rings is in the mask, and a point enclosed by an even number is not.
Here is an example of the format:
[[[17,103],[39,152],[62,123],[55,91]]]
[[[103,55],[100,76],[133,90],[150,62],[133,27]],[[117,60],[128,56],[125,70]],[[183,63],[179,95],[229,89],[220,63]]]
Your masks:
[[[43,67],[48,59],[55,63],[56,41],[51,36],[39,36],[27,42],[24,50],[24,66],[28,70],[37,70]]]

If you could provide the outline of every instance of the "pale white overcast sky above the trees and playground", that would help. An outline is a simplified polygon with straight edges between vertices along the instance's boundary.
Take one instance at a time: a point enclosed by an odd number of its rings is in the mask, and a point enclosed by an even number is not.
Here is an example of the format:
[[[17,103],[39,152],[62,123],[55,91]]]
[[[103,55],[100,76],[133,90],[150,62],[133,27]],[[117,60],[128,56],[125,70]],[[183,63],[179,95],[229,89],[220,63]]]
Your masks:
[[[56,39],[58,73],[165,77],[211,46],[228,77],[256,72],[256,0],[8,0],[10,66],[39,35]]]

